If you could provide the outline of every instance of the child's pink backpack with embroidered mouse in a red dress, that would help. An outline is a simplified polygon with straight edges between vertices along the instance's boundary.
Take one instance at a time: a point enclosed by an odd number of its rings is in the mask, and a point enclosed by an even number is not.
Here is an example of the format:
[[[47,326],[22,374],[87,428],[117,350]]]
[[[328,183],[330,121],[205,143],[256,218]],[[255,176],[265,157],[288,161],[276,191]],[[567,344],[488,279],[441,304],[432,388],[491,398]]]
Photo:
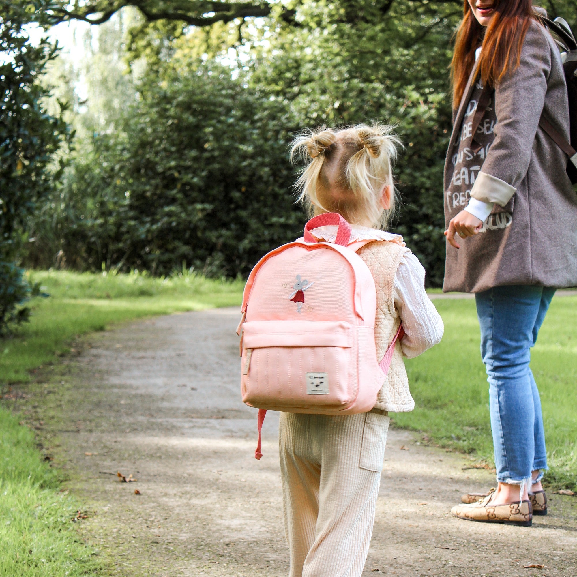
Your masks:
[[[338,224],[335,243],[310,230]],[[379,363],[374,343],[376,287],[349,244],[351,226],[336,213],[309,220],[303,239],[266,254],[242,297],[242,401],[258,407],[258,447],[267,409],[345,415],[373,409],[387,376],[395,335]]]

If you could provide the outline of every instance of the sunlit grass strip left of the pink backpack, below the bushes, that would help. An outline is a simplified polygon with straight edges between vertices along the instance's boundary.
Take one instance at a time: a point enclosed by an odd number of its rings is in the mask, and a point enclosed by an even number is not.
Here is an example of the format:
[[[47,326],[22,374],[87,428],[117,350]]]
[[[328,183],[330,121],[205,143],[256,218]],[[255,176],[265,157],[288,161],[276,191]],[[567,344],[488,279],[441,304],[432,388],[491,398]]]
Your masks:
[[[169,278],[138,272],[29,275],[50,296],[33,299],[31,321],[17,329],[16,338],[0,340],[0,385],[28,381],[30,369],[66,353],[78,335],[155,314],[239,305],[244,286],[242,280],[211,280],[188,271]]]

